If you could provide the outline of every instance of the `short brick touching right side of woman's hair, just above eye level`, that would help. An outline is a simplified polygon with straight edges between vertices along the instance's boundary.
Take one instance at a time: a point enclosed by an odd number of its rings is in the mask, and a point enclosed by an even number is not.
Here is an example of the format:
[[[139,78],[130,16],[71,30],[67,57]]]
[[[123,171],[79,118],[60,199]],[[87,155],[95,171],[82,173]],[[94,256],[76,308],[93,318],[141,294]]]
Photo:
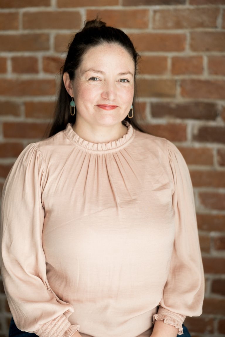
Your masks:
[[[138,64],[141,74],[164,74],[167,72],[166,56],[142,56]]]

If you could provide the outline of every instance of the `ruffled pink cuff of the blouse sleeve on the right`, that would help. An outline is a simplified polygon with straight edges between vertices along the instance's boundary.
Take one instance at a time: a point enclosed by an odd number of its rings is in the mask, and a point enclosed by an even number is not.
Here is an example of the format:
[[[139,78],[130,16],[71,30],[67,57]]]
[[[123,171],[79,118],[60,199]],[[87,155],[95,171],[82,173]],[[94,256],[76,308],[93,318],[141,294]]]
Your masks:
[[[183,335],[183,327],[186,316],[169,311],[165,308],[159,307],[157,314],[153,315],[153,324],[156,320],[164,320],[164,323],[173,325],[178,329],[178,335]]]

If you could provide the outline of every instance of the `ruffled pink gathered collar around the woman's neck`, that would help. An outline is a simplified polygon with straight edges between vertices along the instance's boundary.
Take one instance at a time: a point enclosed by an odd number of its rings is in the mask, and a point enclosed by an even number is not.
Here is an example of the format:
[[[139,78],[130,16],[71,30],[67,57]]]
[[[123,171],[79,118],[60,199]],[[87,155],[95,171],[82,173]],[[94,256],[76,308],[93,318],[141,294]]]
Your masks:
[[[100,151],[100,152],[107,151],[108,152],[110,150],[120,149],[121,147],[125,146],[129,141],[131,141],[131,139],[133,138],[132,136],[134,135],[134,128],[128,121],[125,121],[125,125],[128,128],[127,132],[121,138],[115,141],[108,142],[108,143],[91,143],[91,142],[85,141],[74,131],[71,123],[67,124],[64,130],[64,133],[66,137],[72,140],[76,145],[86,150]]]

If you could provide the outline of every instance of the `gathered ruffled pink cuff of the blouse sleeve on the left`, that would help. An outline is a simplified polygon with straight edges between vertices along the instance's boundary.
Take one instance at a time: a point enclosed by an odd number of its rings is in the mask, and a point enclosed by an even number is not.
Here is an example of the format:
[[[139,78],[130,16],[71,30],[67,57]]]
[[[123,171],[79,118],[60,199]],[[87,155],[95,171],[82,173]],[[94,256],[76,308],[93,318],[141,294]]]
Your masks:
[[[39,337],[71,337],[79,328],[79,325],[71,325],[66,316],[61,315],[43,324],[34,333]]]

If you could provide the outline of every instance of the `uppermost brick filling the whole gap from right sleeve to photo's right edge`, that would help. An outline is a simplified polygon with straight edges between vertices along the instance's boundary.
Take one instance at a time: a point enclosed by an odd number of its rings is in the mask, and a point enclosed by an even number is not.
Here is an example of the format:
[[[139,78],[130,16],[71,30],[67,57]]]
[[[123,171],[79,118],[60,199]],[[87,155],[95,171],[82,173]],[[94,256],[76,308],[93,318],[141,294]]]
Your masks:
[[[225,188],[225,171],[190,171],[194,187]]]

